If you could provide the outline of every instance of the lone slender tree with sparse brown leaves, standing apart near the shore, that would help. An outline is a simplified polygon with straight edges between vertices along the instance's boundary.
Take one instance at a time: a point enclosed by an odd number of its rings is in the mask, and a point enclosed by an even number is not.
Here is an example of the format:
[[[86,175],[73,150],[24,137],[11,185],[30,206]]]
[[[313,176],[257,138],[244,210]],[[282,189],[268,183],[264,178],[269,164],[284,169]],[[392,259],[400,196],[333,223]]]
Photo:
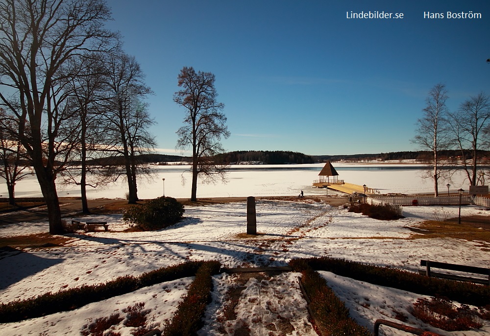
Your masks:
[[[216,100],[215,75],[211,72],[197,72],[193,67],[184,67],[178,75],[178,86],[173,101],[186,111],[184,126],[177,130],[177,148],[182,151],[192,149],[191,201],[196,201],[197,177],[204,180],[224,177],[224,167],[214,162],[213,156],[222,153],[221,137],[230,136],[225,125],[226,117],[220,111],[224,104]]]

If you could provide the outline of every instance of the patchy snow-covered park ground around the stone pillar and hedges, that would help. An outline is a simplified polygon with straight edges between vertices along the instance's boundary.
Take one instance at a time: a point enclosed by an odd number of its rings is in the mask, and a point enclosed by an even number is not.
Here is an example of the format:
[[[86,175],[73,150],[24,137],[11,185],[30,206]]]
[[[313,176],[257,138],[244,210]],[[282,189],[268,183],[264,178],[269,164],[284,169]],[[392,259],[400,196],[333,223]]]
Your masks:
[[[436,207],[405,207],[406,218],[379,221],[324,203],[260,200],[257,202],[257,231],[245,239],[245,202],[187,207],[185,219],[154,232],[124,233],[121,215],[70,219],[109,223],[110,232],[71,235],[66,246],[25,249],[23,253],[0,256],[0,301],[26,299],[61,288],[97,284],[117,276],[143,272],[186,260],[218,260],[223,267],[287,264],[292,258],[331,256],[364,263],[390,265],[411,271],[420,269],[420,259],[488,267],[489,243],[456,239],[410,239]],[[442,211],[442,210],[441,210]],[[444,207],[457,216],[458,207]],[[475,206],[462,208],[462,216],[489,216]],[[48,223],[18,223],[0,227],[0,237],[47,232]],[[393,319],[395,311],[408,322],[441,335],[490,335],[490,322],[478,331],[443,332],[411,317],[412,304],[421,295],[382,288],[336,276],[327,279],[351,315],[372,330],[377,318]],[[201,335],[233,335],[248,328],[250,335],[315,335],[307,320],[305,301],[297,285],[298,273],[240,279],[235,274],[214,277],[213,302],[208,305]],[[61,312],[26,321],[0,325],[0,335],[79,335],[84,325],[96,318],[121,313],[123,308],[145,302],[150,327],[163,328],[185,294],[192,278],[162,283],[139,291],[92,303],[72,312]],[[236,288],[239,288],[237,291]],[[235,290],[236,307],[229,310]],[[366,304],[368,302],[369,304]],[[364,304],[364,305],[363,305]],[[227,308],[228,307],[228,308]],[[133,328],[122,321],[115,328],[131,335]],[[282,334],[281,334],[282,333]],[[238,335],[238,334],[237,334]],[[406,335],[392,329],[385,335]]]

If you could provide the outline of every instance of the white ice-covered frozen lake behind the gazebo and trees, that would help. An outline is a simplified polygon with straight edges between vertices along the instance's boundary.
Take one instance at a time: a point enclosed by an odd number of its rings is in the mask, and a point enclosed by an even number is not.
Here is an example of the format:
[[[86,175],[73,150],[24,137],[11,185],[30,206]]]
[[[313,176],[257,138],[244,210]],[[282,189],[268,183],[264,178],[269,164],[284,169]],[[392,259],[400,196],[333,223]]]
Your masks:
[[[231,166],[227,173],[227,183],[202,184],[197,186],[197,197],[228,197],[228,196],[274,196],[298,195],[301,190],[305,195],[325,195],[327,190],[312,187],[314,180],[324,164],[311,165],[237,165]],[[424,167],[410,164],[354,164],[334,163],[339,179],[358,185],[366,184],[369,188],[378,189],[381,193],[424,193],[433,192],[431,179],[424,179]],[[175,198],[191,196],[191,175],[184,172],[189,166],[151,166],[152,177],[141,177],[138,180],[138,197],[154,198],[165,195]],[[182,176],[186,183],[182,185]],[[451,180],[440,180],[439,191],[447,192],[446,184],[451,184],[450,191],[463,188],[468,190],[468,183],[462,171],[455,173]],[[17,197],[41,197],[35,176],[19,181],[15,187]],[[106,187],[93,189],[87,187],[89,199],[124,198],[127,186],[123,180]],[[328,194],[334,194],[328,191]],[[4,181],[0,183],[0,195],[8,197]],[[58,184],[58,195],[80,196],[77,186]]]

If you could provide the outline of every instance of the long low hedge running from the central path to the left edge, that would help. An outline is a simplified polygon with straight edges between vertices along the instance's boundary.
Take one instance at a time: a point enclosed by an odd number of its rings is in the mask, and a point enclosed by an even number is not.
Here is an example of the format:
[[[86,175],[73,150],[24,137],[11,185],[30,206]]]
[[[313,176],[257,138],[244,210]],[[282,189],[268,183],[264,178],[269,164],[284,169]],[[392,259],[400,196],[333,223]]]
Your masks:
[[[194,276],[202,264],[205,263],[189,261],[155,269],[136,277],[126,275],[102,284],[83,285],[59,290],[55,293],[48,292],[25,300],[0,304],[0,323],[16,322],[55,312],[71,311],[86,304],[126,294],[139,288]]]

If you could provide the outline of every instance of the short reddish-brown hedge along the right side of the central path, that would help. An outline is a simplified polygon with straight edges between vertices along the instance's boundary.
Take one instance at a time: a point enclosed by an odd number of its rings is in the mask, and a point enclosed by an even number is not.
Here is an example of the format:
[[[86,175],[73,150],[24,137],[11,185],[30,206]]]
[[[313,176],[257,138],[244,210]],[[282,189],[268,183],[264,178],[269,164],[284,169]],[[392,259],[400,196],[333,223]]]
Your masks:
[[[349,310],[345,304],[335,295],[332,288],[327,286],[325,279],[318,272],[311,267],[305,267],[301,274],[301,282],[311,299],[310,311],[315,315],[313,317],[320,335],[372,335],[368,329],[349,317]]]

